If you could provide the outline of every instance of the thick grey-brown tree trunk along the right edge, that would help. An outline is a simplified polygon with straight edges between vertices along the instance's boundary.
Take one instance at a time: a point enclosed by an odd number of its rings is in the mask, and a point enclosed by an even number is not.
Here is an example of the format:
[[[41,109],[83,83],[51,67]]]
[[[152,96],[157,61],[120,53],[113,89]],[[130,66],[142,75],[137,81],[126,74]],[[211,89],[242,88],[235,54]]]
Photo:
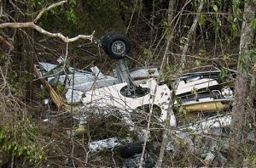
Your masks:
[[[249,115],[246,109],[247,95],[249,92],[249,81],[246,69],[249,69],[248,51],[253,45],[253,28],[249,26],[249,21],[255,17],[255,7],[253,3],[245,3],[243,22],[241,25],[240,55],[237,65],[235,98],[231,122],[233,138],[230,143],[231,148],[236,149],[235,152],[233,152],[234,164],[236,166],[241,166],[242,163],[240,148],[244,140],[243,137],[246,135],[246,116]]]

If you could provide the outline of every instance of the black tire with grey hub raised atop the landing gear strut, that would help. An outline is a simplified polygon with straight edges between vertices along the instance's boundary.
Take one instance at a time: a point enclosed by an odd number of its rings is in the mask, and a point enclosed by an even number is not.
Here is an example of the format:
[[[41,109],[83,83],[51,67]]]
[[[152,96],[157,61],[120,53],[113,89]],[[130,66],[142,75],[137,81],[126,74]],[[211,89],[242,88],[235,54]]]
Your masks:
[[[131,50],[131,44],[126,36],[113,31],[103,37],[102,48],[110,58],[124,59]]]

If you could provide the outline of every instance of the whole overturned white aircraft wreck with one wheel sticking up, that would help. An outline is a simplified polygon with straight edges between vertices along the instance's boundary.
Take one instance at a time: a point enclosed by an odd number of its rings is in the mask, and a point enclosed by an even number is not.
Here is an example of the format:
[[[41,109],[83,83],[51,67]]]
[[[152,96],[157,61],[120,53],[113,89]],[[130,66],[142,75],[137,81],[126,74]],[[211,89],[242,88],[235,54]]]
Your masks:
[[[126,126],[125,136],[104,136],[90,142],[88,148],[96,152],[121,147],[124,166],[133,167],[139,164],[143,142],[146,141],[147,146],[151,145],[152,150],[160,148],[161,131],[155,130],[163,130],[168,120],[175,129],[170,133],[166,151],[176,154],[177,142],[182,141],[190,153],[195,152],[201,157],[203,163],[208,164],[218,158],[220,164],[224,165],[226,159],[221,150],[224,149],[225,140],[219,144],[209,140],[211,138],[206,140],[203,135],[229,134],[231,117],[228,111],[234,96],[230,82],[236,76],[234,71],[229,71],[230,80],[224,81],[219,77],[221,70],[211,70],[183,74],[167,85],[160,81],[160,70],[157,68],[128,70],[125,55],[131,47],[125,36],[109,33],[102,39],[102,48],[119,62],[113,70],[114,76],[104,76],[97,67],[92,67],[90,72],[68,68],[71,73],[52,76],[50,74],[57,74],[55,70],[59,66],[48,63],[38,65],[44,70],[43,76],[48,77],[49,83],[66,84],[67,103],[83,103],[79,113],[73,116],[79,122],[79,128],[73,131],[73,135],[83,134],[92,119],[95,122],[117,118],[121,125]],[[177,89],[173,91],[175,84]],[[170,104],[171,97],[173,101]],[[169,120],[167,116],[170,108],[173,110]],[[193,115],[196,120],[183,120]],[[208,146],[196,147],[197,142],[203,141]],[[143,165],[154,166],[154,158],[152,154],[144,154]]]

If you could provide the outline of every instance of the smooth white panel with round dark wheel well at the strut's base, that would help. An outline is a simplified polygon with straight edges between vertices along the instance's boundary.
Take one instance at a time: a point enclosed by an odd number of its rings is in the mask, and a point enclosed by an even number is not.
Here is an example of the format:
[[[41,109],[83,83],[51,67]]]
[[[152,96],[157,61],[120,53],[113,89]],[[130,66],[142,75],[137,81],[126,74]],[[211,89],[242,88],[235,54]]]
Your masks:
[[[86,92],[85,98],[82,99],[82,102],[87,107],[113,106],[119,109],[126,109],[130,112],[132,109],[137,109],[143,105],[155,104],[161,109],[160,120],[166,120],[169,98],[171,96],[171,91],[166,85],[159,86],[154,79],[149,79],[145,84],[140,85],[140,87],[149,88],[148,94],[139,98],[125,97],[121,90],[126,85],[126,83],[120,83],[110,87],[102,87]],[[156,92],[154,94],[155,89]],[[128,117],[127,121],[128,120],[131,120],[131,117]],[[177,125],[174,114],[171,116],[170,124],[171,126]]]

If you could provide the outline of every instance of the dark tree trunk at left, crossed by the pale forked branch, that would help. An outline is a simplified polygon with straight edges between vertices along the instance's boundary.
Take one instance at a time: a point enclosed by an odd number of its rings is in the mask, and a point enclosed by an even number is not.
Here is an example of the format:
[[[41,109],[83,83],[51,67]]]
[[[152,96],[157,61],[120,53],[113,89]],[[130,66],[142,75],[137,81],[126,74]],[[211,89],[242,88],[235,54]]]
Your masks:
[[[15,2],[15,20],[17,23],[24,23],[27,20],[32,20],[32,3],[29,1]],[[22,14],[23,13],[23,14]],[[17,81],[25,81],[25,98],[32,98],[32,74],[34,64],[33,52],[33,30],[26,29],[26,33],[20,29],[15,30],[15,50],[14,50],[14,70],[19,75]]]

